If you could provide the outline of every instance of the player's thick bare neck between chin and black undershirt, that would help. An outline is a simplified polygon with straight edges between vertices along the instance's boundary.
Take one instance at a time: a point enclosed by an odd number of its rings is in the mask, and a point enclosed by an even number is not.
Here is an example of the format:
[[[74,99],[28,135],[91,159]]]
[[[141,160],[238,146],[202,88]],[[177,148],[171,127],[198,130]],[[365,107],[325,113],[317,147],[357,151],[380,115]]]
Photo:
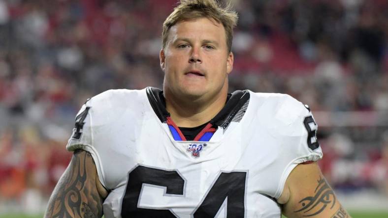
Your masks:
[[[227,98],[227,87],[210,100],[200,98],[193,101],[175,97],[167,90],[164,91],[166,109],[171,119],[179,127],[197,127],[208,121],[224,108]]]

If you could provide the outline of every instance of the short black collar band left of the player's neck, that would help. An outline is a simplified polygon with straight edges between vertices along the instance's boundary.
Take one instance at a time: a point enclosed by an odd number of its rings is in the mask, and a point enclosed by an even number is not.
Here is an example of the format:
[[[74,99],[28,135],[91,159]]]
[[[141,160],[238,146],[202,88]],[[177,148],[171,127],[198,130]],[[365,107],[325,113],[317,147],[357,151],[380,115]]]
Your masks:
[[[162,90],[155,87],[147,87],[146,91],[152,109],[154,109],[162,123],[166,122],[166,117],[170,116],[170,113],[168,113],[164,106],[164,99],[161,98]]]

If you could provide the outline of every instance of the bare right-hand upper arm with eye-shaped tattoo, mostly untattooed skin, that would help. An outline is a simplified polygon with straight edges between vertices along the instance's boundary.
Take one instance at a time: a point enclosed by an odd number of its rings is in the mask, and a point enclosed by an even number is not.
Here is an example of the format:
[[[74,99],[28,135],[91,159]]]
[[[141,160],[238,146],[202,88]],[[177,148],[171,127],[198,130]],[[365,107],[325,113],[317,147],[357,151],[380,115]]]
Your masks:
[[[350,218],[315,162],[292,170],[278,201],[288,218]]]

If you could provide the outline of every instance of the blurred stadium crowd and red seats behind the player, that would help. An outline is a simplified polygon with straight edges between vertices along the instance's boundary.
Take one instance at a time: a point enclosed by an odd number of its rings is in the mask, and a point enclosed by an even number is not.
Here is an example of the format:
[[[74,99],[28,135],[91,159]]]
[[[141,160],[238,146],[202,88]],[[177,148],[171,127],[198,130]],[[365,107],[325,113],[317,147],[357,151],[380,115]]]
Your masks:
[[[388,1],[235,0],[230,91],[283,92],[319,125],[354,217],[388,218]],[[162,87],[175,0],[0,0],[0,218],[41,217],[86,99]]]

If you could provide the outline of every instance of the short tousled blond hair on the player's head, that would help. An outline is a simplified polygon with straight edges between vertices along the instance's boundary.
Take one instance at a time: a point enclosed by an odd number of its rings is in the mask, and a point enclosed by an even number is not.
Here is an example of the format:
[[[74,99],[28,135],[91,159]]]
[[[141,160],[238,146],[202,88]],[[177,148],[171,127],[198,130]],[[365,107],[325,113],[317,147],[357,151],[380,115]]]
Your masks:
[[[180,21],[196,18],[212,18],[222,24],[226,33],[226,46],[231,51],[233,28],[237,25],[238,15],[230,4],[222,7],[217,0],[180,0],[180,4],[163,23],[162,48],[167,44],[168,31]]]

